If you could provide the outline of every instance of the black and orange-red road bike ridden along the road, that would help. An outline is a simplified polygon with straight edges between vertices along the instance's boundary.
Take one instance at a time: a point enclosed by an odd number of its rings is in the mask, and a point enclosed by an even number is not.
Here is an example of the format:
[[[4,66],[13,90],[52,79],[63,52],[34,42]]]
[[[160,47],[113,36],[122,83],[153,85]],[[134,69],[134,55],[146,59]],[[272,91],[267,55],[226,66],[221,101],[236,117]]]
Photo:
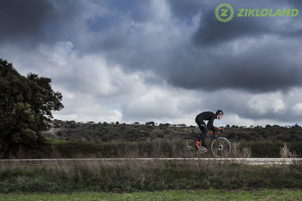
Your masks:
[[[207,132],[207,134],[213,134],[213,137],[205,144],[204,147],[201,147],[201,149],[198,149],[196,146],[196,141],[201,133],[197,133],[196,128],[198,126],[190,126],[191,128],[195,129],[196,132],[196,138],[194,137],[185,137],[182,139],[178,145],[179,153],[186,157],[197,157],[199,154],[203,154],[206,152],[205,147],[207,147],[211,142],[211,152],[212,154],[217,158],[223,158],[230,154],[231,152],[231,143],[228,139],[225,137],[217,137],[216,134],[221,133],[224,131],[223,126],[218,128],[218,131],[216,133],[214,132]]]

